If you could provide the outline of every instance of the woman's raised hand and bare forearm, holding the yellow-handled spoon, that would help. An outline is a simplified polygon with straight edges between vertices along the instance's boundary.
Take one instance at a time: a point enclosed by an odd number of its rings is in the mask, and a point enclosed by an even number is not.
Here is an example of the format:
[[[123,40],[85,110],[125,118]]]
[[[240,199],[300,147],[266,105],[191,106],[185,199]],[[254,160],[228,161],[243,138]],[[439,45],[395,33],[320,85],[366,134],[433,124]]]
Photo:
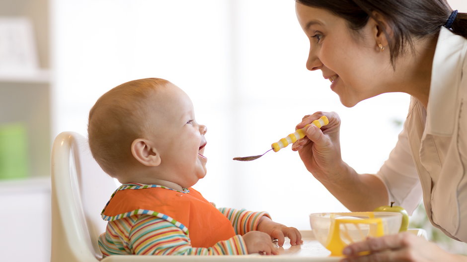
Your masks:
[[[329,124],[305,128],[307,134],[297,140],[292,150],[299,151],[308,171],[351,211],[373,210],[388,203],[386,186],[372,174],[358,174],[348,166],[340,154],[340,118],[334,112],[316,112],[305,116],[297,129],[303,128],[321,116]]]

